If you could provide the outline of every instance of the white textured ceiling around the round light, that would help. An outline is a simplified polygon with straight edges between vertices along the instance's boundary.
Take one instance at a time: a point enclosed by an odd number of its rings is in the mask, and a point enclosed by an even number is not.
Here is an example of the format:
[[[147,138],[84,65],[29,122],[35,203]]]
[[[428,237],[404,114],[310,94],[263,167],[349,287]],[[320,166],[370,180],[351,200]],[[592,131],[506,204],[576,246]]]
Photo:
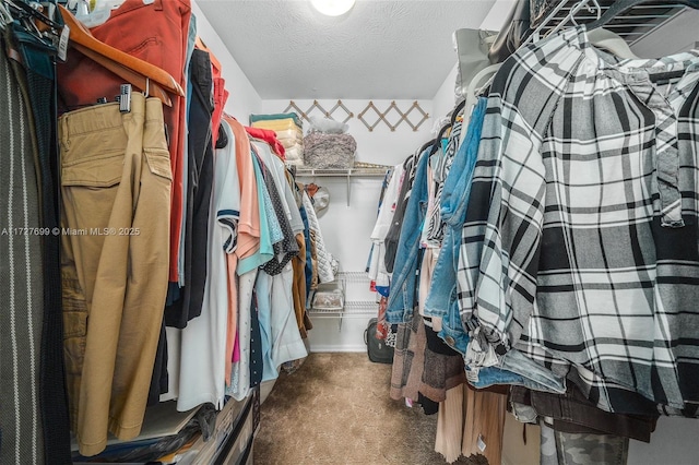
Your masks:
[[[457,62],[451,40],[494,0],[357,0],[340,17],[301,0],[199,0],[263,99],[433,98]]]

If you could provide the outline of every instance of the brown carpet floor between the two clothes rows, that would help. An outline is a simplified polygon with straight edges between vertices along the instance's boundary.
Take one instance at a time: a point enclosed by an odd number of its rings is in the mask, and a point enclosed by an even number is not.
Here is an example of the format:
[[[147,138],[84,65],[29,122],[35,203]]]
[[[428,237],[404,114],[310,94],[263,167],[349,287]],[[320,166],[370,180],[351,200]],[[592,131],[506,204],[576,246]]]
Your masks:
[[[366,354],[311,354],[261,407],[254,464],[438,465],[437,415],[389,397],[391,366]],[[457,464],[485,464],[483,457]]]

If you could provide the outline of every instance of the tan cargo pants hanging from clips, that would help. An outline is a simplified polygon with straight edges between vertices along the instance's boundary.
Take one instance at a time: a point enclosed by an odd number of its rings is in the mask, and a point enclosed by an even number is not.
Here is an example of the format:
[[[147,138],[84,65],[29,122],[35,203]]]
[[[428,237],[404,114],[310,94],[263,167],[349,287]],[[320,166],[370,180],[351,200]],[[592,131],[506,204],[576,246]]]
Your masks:
[[[171,171],[156,98],[59,120],[64,357],[83,455],[139,434],[167,294]],[[70,228],[68,230],[67,228]]]

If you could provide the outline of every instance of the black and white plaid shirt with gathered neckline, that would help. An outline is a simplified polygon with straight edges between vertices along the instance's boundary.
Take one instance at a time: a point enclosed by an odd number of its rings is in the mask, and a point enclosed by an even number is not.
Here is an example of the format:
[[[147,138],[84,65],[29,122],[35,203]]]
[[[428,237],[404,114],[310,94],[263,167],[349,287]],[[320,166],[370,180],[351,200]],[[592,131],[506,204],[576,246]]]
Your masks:
[[[697,51],[621,61],[584,26],[503,63],[458,271],[482,366],[521,350],[612,412],[699,402],[698,80]]]

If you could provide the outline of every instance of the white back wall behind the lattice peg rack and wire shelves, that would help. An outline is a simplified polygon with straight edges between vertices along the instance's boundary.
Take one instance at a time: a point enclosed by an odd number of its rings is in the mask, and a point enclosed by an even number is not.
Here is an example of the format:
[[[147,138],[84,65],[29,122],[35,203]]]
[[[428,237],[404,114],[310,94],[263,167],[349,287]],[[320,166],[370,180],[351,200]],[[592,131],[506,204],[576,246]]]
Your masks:
[[[296,105],[306,111],[313,100],[294,99]],[[318,100],[319,104],[330,110],[337,100]],[[418,129],[413,131],[404,122],[392,132],[383,122],[380,122],[374,131],[369,130],[356,116],[364,110],[368,100],[347,99],[343,104],[354,112],[347,124],[348,133],[357,141],[356,159],[359,162],[381,165],[395,165],[403,162],[408,155],[429,141],[431,135],[433,119],[426,120]],[[380,111],[386,110],[392,100],[372,100]],[[405,111],[414,100],[395,100],[402,111]],[[262,112],[281,112],[286,109],[289,100],[262,100]],[[423,110],[433,114],[431,100],[418,100]],[[317,111],[317,110],[315,110]],[[318,115],[317,112],[310,115]],[[342,110],[337,117],[344,114]],[[371,112],[367,115],[369,123],[376,120]],[[388,117],[395,122],[395,114]],[[344,119],[340,118],[339,119]],[[417,114],[411,116],[413,122],[417,122]],[[308,128],[308,122],[304,123]],[[381,192],[382,178],[352,178],[351,199],[347,206],[347,184],[345,178],[318,177],[299,179],[303,182],[316,182],[327,187],[330,191],[330,206],[321,212],[320,226],[328,250],[337,258],[342,270],[362,272],[366,269],[371,242],[369,235],[374,228],[377,215],[377,204]],[[375,295],[368,290],[367,283],[348,284],[346,299],[367,301]],[[377,305],[378,313],[378,305]],[[342,322],[342,331],[339,331],[337,319],[315,318],[313,330],[309,332],[309,342],[313,351],[365,351],[364,330],[370,317],[345,318]]]

